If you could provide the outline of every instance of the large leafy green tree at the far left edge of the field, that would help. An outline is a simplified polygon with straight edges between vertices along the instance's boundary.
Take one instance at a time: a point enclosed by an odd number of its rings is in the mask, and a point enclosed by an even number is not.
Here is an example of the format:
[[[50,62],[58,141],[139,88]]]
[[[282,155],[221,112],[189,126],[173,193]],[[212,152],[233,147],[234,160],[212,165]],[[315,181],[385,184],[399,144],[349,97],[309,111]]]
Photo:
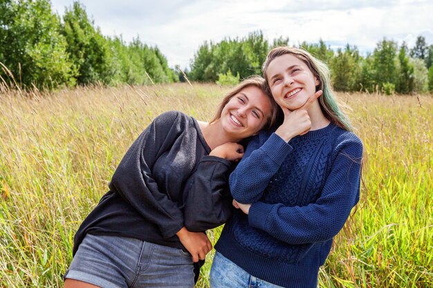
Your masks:
[[[75,84],[67,43],[50,1],[2,1],[0,14],[0,61],[20,85],[55,88]],[[4,71],[0,75],[6,77]]]

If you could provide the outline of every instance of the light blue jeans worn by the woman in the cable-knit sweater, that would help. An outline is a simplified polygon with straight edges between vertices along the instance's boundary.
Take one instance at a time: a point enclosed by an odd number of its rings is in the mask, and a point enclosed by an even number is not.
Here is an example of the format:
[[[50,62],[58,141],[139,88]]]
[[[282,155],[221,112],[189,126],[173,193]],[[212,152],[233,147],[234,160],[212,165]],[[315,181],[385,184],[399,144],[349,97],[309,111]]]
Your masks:
[[[241,267],[216,252],[210,269],[211,288],[282,288],[250,275]]]

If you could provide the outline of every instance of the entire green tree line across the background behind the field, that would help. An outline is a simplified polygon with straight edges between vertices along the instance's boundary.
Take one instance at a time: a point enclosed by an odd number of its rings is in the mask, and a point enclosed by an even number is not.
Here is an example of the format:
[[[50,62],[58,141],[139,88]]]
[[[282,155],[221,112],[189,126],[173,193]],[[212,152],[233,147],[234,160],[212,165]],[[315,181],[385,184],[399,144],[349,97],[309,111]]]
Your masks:
[[[169,68],[158,47],[147,46],[139,38],[126,44],[122,37],[102,35],[79,2],[60,17],[53,13],[49,0],[2,0],[0,16],[0,85],[23,88],[170,83],[185,81],[185,77],[236,84],[261,74],[268,51],[289,40],[279,37],[270,42],[256,31],[218,43],[205,41],[183,73]],[[332,50],[322,40],[299,46],[328,64],[335,90],[433,91],[433,45],[422,36],[412,48],[384,38],[367,55],[349,44]]]

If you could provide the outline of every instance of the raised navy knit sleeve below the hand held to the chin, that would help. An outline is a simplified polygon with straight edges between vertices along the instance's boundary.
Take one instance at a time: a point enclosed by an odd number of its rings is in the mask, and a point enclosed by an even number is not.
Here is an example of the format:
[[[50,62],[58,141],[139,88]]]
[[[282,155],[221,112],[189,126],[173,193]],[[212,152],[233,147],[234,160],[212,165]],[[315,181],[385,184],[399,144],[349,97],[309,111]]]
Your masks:
[[[260,146],[259,136],[254,137],[236,169],[230,174],[230,191],[237,202],[254,203],[261,198],[270,178],[293,148],[273,133]]]

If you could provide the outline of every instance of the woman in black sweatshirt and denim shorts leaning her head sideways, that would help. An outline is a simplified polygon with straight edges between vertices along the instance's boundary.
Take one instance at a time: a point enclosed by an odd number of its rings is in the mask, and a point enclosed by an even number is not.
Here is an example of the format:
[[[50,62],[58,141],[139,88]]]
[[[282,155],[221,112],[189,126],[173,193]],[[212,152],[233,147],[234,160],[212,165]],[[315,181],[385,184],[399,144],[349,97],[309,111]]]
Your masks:
[[[275,121],[266,91],[261,77],[243,80],[211,122],[176,111],[156,117],[75,234],[64,287],[192,288],[193,262],[212,249],[203,231],[231,215],[230,161],[243,155],[237,142]]]

